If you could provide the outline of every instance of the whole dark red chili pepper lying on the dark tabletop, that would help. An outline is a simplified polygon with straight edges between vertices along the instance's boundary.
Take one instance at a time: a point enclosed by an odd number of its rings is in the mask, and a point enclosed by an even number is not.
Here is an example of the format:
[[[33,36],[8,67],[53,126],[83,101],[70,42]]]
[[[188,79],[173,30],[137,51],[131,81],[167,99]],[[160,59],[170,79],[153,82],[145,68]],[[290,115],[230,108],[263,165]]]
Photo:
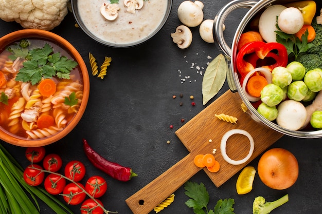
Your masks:
[[[85,154],[90,162],[98,169],[102,170],[109,176],[119,181],[129,181],[132,177],[136,177],[137,174],[129,167],[121,166],[118,163],[108,161],[101,157],[96,151],[94,151],[87,141],[83,139],[83,148]]]

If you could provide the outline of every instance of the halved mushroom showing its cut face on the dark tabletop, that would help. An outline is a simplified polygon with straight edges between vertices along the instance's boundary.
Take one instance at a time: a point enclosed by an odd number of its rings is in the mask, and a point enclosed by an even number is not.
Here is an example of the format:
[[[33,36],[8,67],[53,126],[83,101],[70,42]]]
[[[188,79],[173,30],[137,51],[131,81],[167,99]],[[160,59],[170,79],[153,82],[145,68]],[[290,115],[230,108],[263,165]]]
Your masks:
[[[181,49],[188,48],[192,42],[191,30],[185,25],[178,26],[175,33],[171,33],[171,37],[172,41]]]

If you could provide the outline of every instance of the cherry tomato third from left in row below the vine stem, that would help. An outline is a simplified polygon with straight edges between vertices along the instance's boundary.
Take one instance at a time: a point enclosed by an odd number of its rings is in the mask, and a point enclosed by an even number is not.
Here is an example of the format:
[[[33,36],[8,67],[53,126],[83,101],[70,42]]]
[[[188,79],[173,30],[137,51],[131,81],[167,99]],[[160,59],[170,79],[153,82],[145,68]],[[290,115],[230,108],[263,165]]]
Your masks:
[[[83,184],[77,184],[83,189],[85,189]],[[86,193],[83,192],[75,183],[69,183],[63,189],[62,196],[67,204],[77,205],[84,201]]]

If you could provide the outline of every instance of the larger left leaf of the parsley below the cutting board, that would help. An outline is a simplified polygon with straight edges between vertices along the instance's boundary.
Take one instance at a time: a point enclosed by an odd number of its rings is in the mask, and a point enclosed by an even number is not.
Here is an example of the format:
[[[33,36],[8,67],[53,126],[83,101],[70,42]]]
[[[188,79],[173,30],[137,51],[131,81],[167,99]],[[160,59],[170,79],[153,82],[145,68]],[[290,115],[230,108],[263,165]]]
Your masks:
[[[185,183],[185,194],[189,199],[186,201],[186,205],[193,208],[194,213],[203,214],[205,213],[202,209],[207,209],[207,204],[209,202],[209,193],[203,183],[197,184],[194,182]]]

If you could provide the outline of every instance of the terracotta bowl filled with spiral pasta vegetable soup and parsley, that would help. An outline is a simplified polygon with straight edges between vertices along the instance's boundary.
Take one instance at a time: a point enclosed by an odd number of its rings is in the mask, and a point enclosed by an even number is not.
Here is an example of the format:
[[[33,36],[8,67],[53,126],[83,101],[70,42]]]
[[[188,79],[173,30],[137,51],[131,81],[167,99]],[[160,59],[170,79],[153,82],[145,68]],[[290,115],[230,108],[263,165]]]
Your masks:
[[[42,63],[39,51],[46,53]],[[31,62],[43,70],[33,69]],[[44,64],[55,65],[55,73],[44,74],[50,67]],[[35,78],[30,73],[42,75]],[[0,83],[1,140],[22,147],[45,146],[65,137],[81,120],[90,94],[88,71],[79,52],[61,36],[24,29],[1,37],[0,74],[5,76]],[[40,86],[50,81],[51,92],[49,86]]]

